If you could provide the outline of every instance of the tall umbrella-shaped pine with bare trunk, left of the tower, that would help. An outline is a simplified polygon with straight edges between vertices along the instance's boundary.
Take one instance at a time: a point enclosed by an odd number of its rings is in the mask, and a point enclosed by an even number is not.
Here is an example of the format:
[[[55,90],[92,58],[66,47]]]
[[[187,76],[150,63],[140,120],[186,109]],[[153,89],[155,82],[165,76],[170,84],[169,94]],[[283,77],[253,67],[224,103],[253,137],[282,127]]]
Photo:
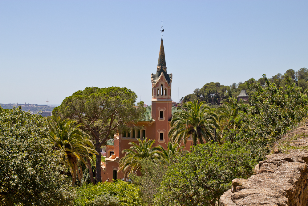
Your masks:
[[[96,167],[100,168],[100,149],[105,142],[118,133],[125,125],[139,119],[144,111],[143,102],[135,106],[137,95],[130,89],[120,87],[87,87],[65,98],[52,111],[61,119],[74,119],[85,126],[95,141]],[[101,181],[100,170],[96,170],[96,182]]]

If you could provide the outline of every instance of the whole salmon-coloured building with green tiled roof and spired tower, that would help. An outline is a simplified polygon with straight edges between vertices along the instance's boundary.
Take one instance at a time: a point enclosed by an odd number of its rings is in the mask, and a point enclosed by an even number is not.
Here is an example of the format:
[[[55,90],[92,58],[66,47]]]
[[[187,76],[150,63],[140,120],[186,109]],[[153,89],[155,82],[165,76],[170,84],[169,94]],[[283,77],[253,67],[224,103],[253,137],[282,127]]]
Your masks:
[[[172,114],[176,112],[176,107],[172,106],[171,99],[171,83],[172,74],[167,74],[165,52],[163,39],[160,42],[160,51],[156,73],[151,74],[152,84],[152,105],[145,107],[146,114],[140,119],[136,126],[140,126],[140,130],[131,130],[120,135],[115,135],[113,140],[107,141],[105,163],[101,164],[102,181],[111,182],[112,179],[123,179],[123,174],[119,169],[119,161],[124,157],[123,149],[129,149],[131,141],[138,141],[141,138],[155,140],[155,145],[162,145],[167,149],[168,132],[170,129],[170,120]],[[150,92],[150,91],[149,91]],[[188,141],[191,141],[188,139]],[[186,149],[191,144],[187,143]]]

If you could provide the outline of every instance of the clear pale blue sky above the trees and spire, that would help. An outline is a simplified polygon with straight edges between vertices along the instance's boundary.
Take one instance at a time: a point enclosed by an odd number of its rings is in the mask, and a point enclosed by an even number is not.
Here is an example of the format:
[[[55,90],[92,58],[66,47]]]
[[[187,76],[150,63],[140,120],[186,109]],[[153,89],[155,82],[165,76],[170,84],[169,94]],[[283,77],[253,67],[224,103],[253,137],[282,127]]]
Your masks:
[[[151,104],[161,20],[172,99],[308,67],[308,1],[0,1],[0,103],[60,104],[85,87]],[[179,90],[179,95],[178,95]]]

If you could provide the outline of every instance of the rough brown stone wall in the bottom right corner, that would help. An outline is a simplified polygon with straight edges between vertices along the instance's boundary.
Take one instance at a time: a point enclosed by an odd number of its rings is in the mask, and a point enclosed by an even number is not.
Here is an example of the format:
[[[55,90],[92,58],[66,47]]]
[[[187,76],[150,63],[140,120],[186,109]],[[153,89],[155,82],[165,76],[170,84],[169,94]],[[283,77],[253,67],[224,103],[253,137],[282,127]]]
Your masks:
[[[308,153],[267,155],[248,179],[233,179],[220,206],[308,206]]]

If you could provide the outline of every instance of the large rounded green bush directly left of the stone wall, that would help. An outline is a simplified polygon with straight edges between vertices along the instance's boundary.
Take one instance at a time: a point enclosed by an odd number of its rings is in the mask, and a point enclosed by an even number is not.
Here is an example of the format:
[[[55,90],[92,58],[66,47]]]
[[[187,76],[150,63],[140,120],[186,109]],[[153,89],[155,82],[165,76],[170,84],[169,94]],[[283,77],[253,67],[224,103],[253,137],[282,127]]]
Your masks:
[[[230,142],[193,146],[176,162],[160,184],[156,205],[217,205],[231,180],[247,178],[255,165],[242,144]]]

